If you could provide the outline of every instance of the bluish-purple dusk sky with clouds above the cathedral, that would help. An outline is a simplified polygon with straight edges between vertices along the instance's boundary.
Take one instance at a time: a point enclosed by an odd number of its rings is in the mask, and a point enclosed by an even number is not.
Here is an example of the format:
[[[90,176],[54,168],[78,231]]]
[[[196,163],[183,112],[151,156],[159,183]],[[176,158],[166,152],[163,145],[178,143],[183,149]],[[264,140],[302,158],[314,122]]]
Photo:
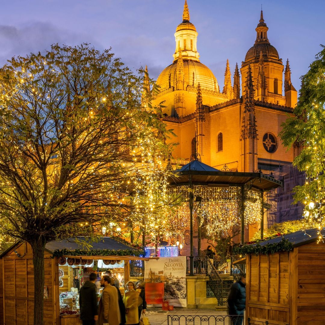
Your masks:
[[[51,44],[90,43],[112,52],[132,69],[148,65],[156,79],[173,62],[176,27],[184,0],[0,0],[0,65],[13,56],[49,50]],[[285,64],[292,84],[325,45],[325,1],[262,2],[271,45]],[[233,75],[253,46],[261,1],[188,0],[190,22],[198,32],[200,61],[222,89],[227,59]]]

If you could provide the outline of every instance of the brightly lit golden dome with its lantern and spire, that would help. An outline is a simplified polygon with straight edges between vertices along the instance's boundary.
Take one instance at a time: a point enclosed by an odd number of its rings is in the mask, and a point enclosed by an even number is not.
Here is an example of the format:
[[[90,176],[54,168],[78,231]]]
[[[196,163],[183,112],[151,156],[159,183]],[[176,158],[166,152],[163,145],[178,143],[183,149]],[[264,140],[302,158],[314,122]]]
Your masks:
[[[197,31],[189,21],[189,11],[185,0],[183,21],[175,32],[176,49],[174,62],[165,68],[157,79],[161,90],[187,90],[187,86],[219,91],[218,83],[212,71],[200,62],[200,55],[196,48]]]

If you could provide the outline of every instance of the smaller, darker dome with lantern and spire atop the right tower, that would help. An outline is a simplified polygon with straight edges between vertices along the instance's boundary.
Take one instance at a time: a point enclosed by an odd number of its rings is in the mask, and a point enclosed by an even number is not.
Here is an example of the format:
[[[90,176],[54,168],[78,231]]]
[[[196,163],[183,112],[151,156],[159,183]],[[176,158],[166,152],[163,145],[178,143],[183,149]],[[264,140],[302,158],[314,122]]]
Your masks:
[[[268,27],[263,19],[263,11],[261,10],[261,19],[257,25],[255,31],[257,32],[255,44],[247,51],[244,63],[251,63],[255,60],[259,60],[260,54],[262,52],[263,59],[271,59],[278,61],[282,64],[279,58],[279,53],[277,49],[272,46],[267,39]]]

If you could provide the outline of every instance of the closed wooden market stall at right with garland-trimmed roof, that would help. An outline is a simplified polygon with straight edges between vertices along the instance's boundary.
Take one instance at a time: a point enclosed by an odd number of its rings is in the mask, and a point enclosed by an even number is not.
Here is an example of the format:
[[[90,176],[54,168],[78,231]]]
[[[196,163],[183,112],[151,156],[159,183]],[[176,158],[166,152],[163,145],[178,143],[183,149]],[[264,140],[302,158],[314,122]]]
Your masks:
[[[317,233],[297,231],[260,243],[269,252],[276,246],[289,251],[246,255],[246,324],[325,324],[325,243]]]

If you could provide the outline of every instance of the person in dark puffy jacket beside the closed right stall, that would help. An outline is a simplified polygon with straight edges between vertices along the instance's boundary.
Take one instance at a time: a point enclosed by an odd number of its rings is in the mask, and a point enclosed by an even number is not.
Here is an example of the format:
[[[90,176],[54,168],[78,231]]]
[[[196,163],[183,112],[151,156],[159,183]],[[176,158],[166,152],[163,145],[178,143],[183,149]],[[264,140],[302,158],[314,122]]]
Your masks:
[[[246,305],[246,274],[243,274],[240,280],[231,286],[227,303],[229,315],[238,315],[232,318],[233,325],[241,325]]]

